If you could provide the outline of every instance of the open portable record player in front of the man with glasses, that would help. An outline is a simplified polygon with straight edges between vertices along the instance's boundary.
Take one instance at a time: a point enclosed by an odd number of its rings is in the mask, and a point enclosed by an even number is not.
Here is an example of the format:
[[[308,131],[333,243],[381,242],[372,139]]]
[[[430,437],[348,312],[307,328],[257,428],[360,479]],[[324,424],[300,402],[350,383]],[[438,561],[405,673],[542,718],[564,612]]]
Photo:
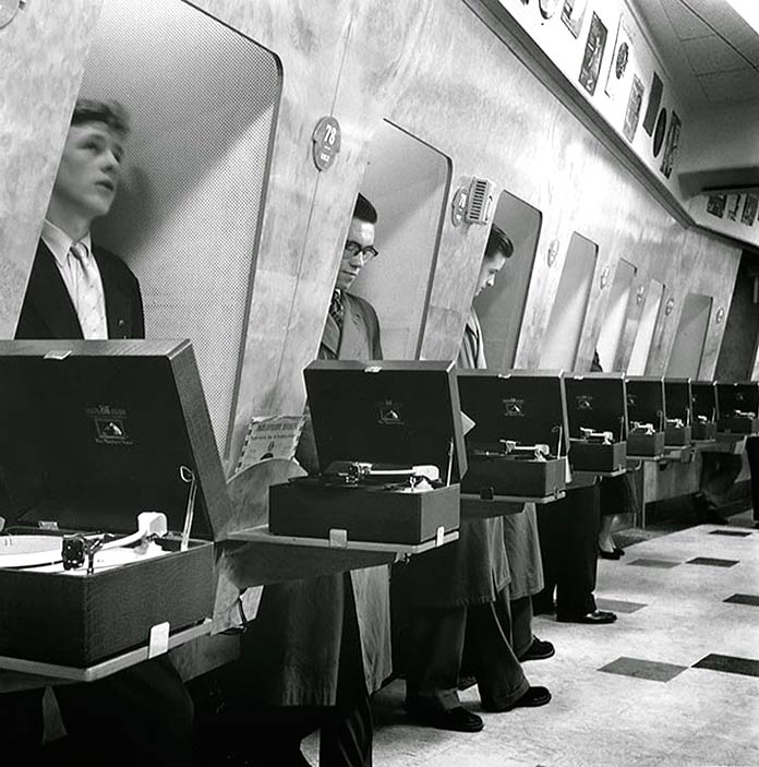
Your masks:
[[[398,547],[459,526],[466,468],[451,362],[316,361],[304,371],[318,476],[269,489],[269,532]]]

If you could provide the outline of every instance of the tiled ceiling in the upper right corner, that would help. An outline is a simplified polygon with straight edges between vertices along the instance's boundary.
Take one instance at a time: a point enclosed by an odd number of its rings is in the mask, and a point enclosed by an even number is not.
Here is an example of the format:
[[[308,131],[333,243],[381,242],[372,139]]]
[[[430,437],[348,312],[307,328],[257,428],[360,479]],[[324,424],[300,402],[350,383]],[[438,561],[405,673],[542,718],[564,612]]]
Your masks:
[[[759,104],[759,33],[736,0],[634,2],[688,106]]]

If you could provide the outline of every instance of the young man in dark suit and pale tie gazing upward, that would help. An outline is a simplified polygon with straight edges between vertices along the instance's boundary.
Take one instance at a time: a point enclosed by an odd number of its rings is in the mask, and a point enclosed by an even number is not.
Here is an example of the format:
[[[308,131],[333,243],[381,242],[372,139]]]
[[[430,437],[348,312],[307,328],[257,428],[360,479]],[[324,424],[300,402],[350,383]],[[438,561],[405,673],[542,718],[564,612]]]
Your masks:
[[[135,276],[89,233],[113,202],[128,133],[120,105],[77,100],[16,338],[144,338]],[[41,740],[43,692],[0,695],[4,738],[24,750]],[[130,767],[189,763],[193,706],[168,656],[55,692],[70,753]]]

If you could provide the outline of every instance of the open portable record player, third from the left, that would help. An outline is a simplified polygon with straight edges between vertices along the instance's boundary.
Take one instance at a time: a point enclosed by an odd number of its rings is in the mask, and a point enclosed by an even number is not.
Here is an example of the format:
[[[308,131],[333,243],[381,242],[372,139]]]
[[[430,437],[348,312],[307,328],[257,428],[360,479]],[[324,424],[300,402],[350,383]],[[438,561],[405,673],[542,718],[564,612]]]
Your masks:
[[[547,503],[564,496],[567,409],[558,371],[458,372],[467,432],[465,496]]]

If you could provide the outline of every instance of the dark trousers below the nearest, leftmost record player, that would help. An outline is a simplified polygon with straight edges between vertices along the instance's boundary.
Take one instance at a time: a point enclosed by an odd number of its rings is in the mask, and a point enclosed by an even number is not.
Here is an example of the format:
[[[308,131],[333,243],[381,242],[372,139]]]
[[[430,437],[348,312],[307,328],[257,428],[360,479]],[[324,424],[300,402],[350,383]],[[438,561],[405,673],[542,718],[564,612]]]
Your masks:
[[[51,746],[67,754],[51,756],[51,764],[92,753],[108,754],[108,764],[118,767],[190,764],[193,705],[166,656],[97,682],[61,685],[55,693],[69,738],[63,746]],[[0,695],[3,742],[28,754],[29,762],[43,735],[43,695],[44,690]],[[45,755],[38,756],[45,764]]]

